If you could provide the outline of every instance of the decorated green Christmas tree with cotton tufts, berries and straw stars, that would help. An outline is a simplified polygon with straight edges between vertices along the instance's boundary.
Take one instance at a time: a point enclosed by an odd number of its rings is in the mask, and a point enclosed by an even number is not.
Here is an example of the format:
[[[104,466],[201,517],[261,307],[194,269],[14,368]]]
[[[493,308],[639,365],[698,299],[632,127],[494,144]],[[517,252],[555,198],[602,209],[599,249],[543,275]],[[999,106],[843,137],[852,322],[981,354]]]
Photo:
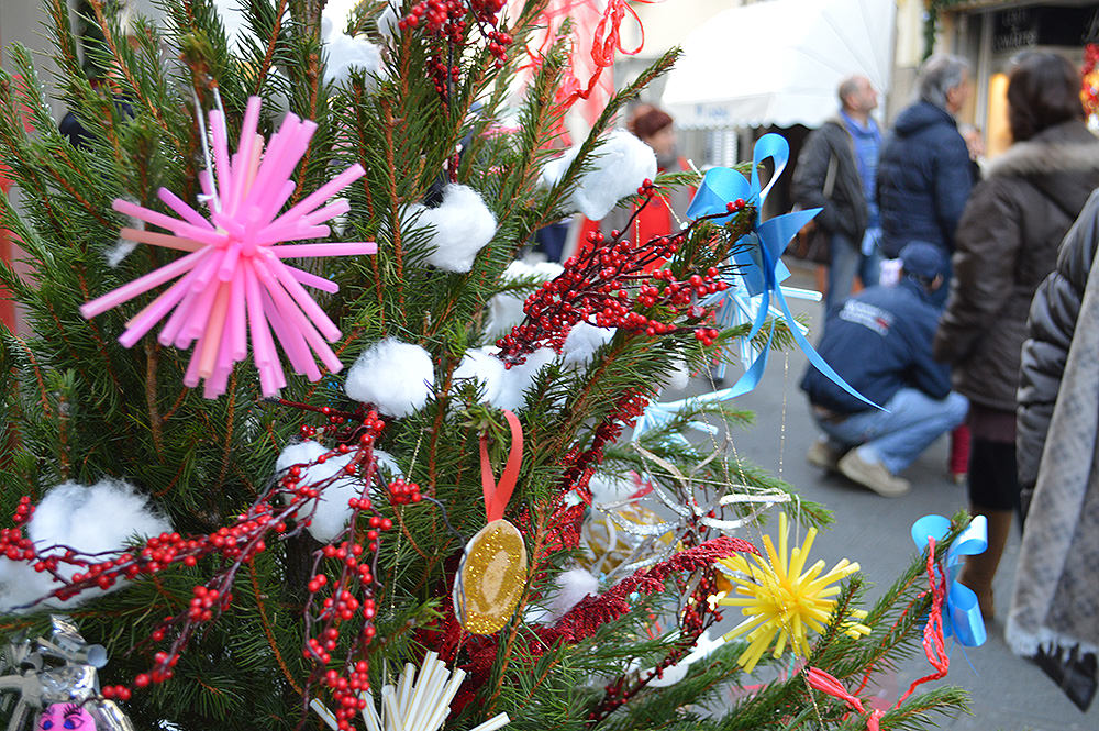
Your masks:
[[[91,696],[141,729],[887,729],[962,707],[857,698],[921,642],[941,657],[962,521],[861,610],[857,565],[807,562],[811,531],[791,551],[784,513],[758,540],[767,508],[821,506],[680,434],[747,414],[660,411],[677,372],[768,340],[714,320],[758,198],[515,263],[564,215],[699,185],[611,131],[676,54],[562,156],[591,87],[544,1],[323,5],[246,0],[231,37],[210,0],[127,25],[89,0],[78,41],[52,0],[49,90],[11,48],[22,203],[0,201],[31,273],[0,269],[30,331],[0,348],[8,640],[67,614],[110,654]],[[745,623],[710,642],[730,606]]]

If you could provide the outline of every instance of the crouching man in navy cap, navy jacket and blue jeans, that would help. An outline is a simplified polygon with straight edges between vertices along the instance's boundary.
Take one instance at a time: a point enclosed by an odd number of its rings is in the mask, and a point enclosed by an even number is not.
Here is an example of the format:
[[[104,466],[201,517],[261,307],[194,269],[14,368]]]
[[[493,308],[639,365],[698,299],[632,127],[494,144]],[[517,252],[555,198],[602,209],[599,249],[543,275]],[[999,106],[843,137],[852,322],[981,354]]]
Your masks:
[[[931,357],[939,321],[931,297],[942,286],[946,261],[925,242],[908,244],[900,259],[900,281],[844,302],[825,322],[818,348],[844,380],[885,410],[868,407],[817,368],[801,379],[826,435],[810,448],[809,462],[885,497],[909,490],[897,473],[962,423],[969,406],[951,391],[950,369]]]

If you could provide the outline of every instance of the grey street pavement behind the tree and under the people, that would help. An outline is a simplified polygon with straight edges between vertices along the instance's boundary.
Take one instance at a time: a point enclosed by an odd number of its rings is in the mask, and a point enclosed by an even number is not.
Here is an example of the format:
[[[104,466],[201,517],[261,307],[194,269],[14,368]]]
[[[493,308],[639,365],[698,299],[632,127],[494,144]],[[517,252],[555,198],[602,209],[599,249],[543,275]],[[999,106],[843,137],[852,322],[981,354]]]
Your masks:
[[[790,263],[793,277],[786,284],[811,288],[811,272],[797,264]],[[807,324],[813,329],[810,340],[815,342],[821,306],[789,301],[795,314],[808,317]],[[737,409],[755,412],[752,425],[733,433],[733,448],[736,454],[747,456],[792,484],[804,498],[821,502],[834,512],[835,522],[818,535],[810,561],[823,558],[828,566],[843,557],[857,561],[873,585],[867,592],[869,603],[914,558],[915,546],[910,538],[912,521],[928,513],[952,516],[966,507],[965,487],[950,479],[945,436],[903,473],[911,480],[912,490],[900,498],[879,497],[841,475],[824,474],[809,465],[804,455],[817,431],[798,388],[804,368],[806,357],[797,347],[771,352],[763,383],[732,402]],[[739,366],[730,366],[725,385],[740,373]],[[696,377],[688,392],[711,389],[706,378]],[[678,395],[668,394],[667,397],[677,398]],[[776,519],[768,524],[768,532],[777,538],[777,530]],[[791,544],[793,538],[791,535]],[[1080,712],[1035,665],[1013,655],[1003,641],[1001,618],[1010,601],[1018,555],[1017,528],[996,578],[998,614],[988,627],[988,641],[980,647],[964,649],[963,653],[963,647],[947,640],[951,668],[940,684],[967,690],[972,696],[970,713],[963,713],[957,719],[941,718],[937,728],[953,731],[1097,731],[1099,702],[1087,713]],[[732,627],[740,621],[734,614],[739,612],[726,612],[724,624]],[[913,657],[901,661],[897,673],[882,683],[878,691],[882,702],[896,702],[913,679],[932,671],[922,651],[917,649]],[[921,688],[935,685],[926,684]]]

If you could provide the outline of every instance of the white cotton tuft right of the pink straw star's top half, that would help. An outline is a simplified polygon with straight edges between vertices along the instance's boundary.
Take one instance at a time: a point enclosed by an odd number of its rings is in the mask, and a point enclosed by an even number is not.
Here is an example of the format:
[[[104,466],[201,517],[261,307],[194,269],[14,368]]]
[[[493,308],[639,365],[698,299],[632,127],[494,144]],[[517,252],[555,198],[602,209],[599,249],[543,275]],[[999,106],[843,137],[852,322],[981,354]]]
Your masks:
[[[417,204],[408,211],[409,218],[418,214],[418,225],[433,229],[433,251],[425,261],[446,272],[468,272],[477,252],[496,235],[496,217],[477,191],[467,186],[446,186],[440,206]]]

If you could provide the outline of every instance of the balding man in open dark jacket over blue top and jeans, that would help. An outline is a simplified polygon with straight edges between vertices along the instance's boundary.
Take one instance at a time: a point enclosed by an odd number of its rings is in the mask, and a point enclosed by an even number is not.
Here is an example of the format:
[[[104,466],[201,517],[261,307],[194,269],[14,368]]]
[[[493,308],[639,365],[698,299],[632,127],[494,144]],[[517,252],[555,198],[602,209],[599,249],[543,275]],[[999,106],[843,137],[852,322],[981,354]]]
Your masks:
[[[865,76],[852,76],[839,96],[840,113],[806,140],[792,191],[802,208],[823,208],[815,223],[829,241],[825,312],[847,298],[856,274],[865,287],[878,284],[880,266],[874,190],[881,133],[870,117],[878,92]]]

